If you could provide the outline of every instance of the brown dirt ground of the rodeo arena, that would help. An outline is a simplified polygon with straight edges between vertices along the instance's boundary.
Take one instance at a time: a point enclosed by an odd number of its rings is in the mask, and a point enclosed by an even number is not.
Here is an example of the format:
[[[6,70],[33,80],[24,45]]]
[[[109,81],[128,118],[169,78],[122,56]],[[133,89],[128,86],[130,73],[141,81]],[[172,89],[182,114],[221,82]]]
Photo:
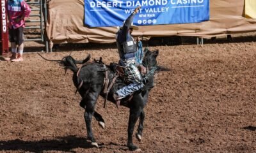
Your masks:
[[[134,144],[143,152],[256,152],[256,36],[149,49],[159,49],[159,65],[170,71],[156,75],[142,141],[134,136]],[[35,54],[41,50],[25,42],[24,62],[0,61],[0,152],[130,152],[129,110],[104,109],[99,98],[106,128],[93,119],[100,148],[92,147],[72,72],[44,61]],[[70,53],[118,61],[114,45],[63,45],[43,55]]]

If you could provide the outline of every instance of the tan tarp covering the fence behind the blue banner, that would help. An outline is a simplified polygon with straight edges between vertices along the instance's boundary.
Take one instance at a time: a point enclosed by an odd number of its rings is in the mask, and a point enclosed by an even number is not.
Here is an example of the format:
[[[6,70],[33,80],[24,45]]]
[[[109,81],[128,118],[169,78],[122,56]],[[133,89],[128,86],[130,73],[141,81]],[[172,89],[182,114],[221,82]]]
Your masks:
[[[83,25],[83,0],[49,1],[47,36],[53,43],[113,43],[116,27]],[[210,0],[210,20],[196,24],[141,26],[134,35],[199,36],[209,38],[256,31],[256,20],[244,18],[244,0]]]

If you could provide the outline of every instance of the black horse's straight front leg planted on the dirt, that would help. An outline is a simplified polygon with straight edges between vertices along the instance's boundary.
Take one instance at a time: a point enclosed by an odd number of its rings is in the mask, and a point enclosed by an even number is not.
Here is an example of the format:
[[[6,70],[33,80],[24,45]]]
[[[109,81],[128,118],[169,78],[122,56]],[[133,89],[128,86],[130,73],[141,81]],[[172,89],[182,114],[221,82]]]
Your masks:
[[[132,110],[130,109],[130,116],[129,116],[129,123],[128,123],[128,142],[127,142],[127,146],[129,148],[129,150],[140,150],[136,145],[134,145],[132,143],[132,134],[134,131],[134,126],[136,124],[136,121],[138,120],[139,116],[140,116],[141,110],[140,109],[136,109],[136,110]]]

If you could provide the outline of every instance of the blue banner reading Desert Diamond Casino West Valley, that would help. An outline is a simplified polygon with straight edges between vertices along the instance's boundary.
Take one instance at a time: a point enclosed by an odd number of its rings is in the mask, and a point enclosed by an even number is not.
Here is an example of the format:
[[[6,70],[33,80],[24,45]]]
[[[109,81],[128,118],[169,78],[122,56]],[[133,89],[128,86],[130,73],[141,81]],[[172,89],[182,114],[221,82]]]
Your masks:
[[[186,24],[209,20],[209,0],[84,0],[84,24],[122,25],[138,6],[135,25]]]

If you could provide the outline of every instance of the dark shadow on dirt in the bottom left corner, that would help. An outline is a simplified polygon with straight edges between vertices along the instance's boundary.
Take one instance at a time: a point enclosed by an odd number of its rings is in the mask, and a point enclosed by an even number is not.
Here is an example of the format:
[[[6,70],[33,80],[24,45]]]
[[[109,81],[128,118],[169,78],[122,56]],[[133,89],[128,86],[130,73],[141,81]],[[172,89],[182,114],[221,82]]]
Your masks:
[[[24,152],[43,152],[43,151],[61,151],[75,152],[72,149],[92,148],[90,142],[86,142],[86,138],[77,138],[76,136],[65,136],[56,138],[55,140],[39,140],[39,141],[24,141],[24,140],[8,140],[0,141],[0,150],[24,151]]]

